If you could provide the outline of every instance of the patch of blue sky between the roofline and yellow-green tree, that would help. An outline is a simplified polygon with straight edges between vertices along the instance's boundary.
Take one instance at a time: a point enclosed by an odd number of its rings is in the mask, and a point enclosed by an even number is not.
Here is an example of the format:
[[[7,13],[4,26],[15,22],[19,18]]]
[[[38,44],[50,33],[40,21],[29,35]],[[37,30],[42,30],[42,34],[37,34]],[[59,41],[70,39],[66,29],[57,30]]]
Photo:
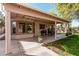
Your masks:
[[[51,10],[56,11],[55,3],[29,3],[30,6],[36,9],[40,9],[44,12],[50,13]]]

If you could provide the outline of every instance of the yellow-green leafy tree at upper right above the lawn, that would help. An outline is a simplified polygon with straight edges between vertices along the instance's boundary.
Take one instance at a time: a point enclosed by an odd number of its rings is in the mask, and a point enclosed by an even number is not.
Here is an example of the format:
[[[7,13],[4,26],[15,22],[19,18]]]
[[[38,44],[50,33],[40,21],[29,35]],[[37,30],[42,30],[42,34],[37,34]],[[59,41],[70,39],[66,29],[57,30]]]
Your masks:
[[[79,17],[78,3],[58,3],[57,8],[59,16],[63,19],[71,20]]]

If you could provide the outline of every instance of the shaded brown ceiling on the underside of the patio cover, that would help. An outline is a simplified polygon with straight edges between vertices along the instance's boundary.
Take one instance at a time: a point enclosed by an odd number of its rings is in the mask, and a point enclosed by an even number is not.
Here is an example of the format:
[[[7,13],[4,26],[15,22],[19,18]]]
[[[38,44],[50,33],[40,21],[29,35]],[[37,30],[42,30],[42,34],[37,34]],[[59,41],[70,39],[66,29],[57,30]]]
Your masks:
[[[28,16],[28,15],[17,14],[17,13],[11,13],[11,19],[12,19],[12,21],[31,21],[31,22],[41,21],[41,22],[45,22],[45,23],[54,23],[54,21],[41,19],[41,18]]]

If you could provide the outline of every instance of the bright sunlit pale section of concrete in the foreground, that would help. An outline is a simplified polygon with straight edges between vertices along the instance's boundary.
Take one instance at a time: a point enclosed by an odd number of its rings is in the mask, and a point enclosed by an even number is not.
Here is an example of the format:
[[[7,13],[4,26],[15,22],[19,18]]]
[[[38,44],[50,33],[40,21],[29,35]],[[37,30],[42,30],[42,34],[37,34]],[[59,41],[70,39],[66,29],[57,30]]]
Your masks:
[[[58,54],[42,46],[40,43],[29,42],[28,44],[27,41],[24,43],[23,41],[20,41],[20,44],[23,47],[23,49],[21,50],[24,51],[24,54],[34,55],[34,56],[58,56]]]

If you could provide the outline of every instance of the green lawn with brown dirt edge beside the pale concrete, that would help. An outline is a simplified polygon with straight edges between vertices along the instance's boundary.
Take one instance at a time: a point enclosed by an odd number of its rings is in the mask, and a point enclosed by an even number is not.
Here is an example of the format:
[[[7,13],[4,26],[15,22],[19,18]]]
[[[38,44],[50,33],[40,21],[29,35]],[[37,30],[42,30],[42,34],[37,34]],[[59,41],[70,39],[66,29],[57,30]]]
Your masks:
[[[79,56],[79,35],[72,35],[70,37],[45,44],[45,46],[60,55]]]

